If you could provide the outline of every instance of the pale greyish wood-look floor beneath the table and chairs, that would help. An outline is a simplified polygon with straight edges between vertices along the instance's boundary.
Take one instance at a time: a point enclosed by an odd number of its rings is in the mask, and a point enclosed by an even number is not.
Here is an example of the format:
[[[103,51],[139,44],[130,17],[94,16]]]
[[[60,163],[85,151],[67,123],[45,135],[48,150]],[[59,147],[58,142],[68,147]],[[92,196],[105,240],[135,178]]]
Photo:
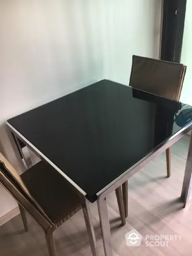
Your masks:
[[[185,161],[189,145],[186,135],[172,146],[172,173],[166,178],[165,153],[148,164],[129,181],[129,216],[120,226],[115,193],[108,198],[114,256],[192,256],[192,202],[183,209],[179,202]],[[1,207],[1,206],[0,206]],[[91,205],[99,256],[104,255],[96,204]],[[0,256],[47,256],[43,231],[28,216],[29,232],[25,233],[18,215],[0,227]],[[170,241],[168,247],[128,247],[125,234],[136,229],[145,235],[182,235],[180,241]],[[91,256],[80,211],[56,232],[58,256]]]

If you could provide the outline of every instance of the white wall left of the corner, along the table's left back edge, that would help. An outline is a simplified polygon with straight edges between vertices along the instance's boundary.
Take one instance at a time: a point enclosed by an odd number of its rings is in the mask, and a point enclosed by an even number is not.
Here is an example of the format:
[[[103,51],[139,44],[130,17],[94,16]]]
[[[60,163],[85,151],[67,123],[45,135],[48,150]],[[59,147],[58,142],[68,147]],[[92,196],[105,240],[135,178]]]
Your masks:
[[[99,5],[95,0],[0,1],[6,109],[1,122],[102,77]]]

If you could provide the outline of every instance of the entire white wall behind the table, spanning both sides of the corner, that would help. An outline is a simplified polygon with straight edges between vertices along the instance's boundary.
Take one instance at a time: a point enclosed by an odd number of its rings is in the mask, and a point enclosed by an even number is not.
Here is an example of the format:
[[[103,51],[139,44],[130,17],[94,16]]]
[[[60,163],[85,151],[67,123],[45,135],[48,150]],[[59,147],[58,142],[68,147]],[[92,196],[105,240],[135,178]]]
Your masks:
[[[16,168],[2,124],[102,78],[128,84],[132,54],[158,57],[159,2],[0,1],[0,144]],[[16,206],[2,188],[0,205]]]

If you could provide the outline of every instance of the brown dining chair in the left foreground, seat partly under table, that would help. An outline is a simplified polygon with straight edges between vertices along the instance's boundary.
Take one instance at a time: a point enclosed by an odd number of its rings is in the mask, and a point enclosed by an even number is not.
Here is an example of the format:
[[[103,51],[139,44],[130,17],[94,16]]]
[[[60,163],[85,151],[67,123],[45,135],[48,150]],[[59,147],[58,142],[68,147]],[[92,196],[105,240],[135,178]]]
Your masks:
[[[43,229],[49,256],[57,255],[53,232],[81,208],[83,208],[87,232],[91,235],[92,227],[89,224],[84,200],[73,186],[48,163],[41,160],[19,175],[0,153],[0,184],[18,202],[25,232],[28,231],[26,211]],[[121,187],[117,189],[116,195],[121,216],[125,216]],[[121,221],[124,223],[125,217]],[[95,250],[94,243],[94,238],[91,237],[92,251]]]

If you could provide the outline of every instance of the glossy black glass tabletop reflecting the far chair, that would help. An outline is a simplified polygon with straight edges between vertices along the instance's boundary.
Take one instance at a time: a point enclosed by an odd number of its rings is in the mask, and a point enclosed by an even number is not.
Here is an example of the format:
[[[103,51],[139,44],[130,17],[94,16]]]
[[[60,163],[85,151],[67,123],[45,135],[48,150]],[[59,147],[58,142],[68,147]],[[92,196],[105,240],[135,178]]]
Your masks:
[[[8,122],[94,201],[98,191],[191,122],[191,110],[102,80]]]

